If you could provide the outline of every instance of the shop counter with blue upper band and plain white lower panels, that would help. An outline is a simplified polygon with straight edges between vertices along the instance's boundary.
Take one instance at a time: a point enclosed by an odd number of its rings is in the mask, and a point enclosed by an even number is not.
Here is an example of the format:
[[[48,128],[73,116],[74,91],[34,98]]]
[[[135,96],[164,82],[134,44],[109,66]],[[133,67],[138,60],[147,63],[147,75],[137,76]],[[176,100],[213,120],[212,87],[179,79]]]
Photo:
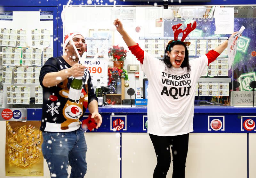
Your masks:
[[[27,114],[24,121],[28,123],[41,120],[42,109],[10,110],[15,112],[16,118],[19,111],[22,116]],[[99,112],[103,118],[101,127],[85,133],[87,177],[152,177],[156,156],[147,133],[147,107],[103,106]],[[253,178],[256,174],[255,122],[255,108],[195,106],[186,178],[213,178],[216,174],[210,173],[216,170],[220,178]],[[2,140],[5,127],[1,122]],[[45,167],[45,175],[48,171]],[[167,177],[172,177],[171,174],[172,163]]]

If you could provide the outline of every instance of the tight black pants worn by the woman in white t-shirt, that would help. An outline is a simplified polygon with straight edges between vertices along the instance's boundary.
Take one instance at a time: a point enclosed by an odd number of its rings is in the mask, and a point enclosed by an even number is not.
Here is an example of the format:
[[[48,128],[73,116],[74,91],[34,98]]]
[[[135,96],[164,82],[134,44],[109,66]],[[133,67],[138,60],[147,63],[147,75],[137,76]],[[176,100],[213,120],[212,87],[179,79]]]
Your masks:
[[[177,136],[157,136],[149,134],[156,152],[157,164],[154,170],[154,178],[165,178],[172,161],[172,178],[184,178],[186,159],[188,154],[188,133]]]

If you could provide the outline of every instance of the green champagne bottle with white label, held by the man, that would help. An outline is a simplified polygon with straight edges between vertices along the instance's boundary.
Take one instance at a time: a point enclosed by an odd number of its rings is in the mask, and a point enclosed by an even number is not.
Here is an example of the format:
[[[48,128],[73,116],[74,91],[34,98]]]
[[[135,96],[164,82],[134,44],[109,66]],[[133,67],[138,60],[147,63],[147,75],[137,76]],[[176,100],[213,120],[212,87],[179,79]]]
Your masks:
[[[77,102],[80,100],[81,92],[83,86],[83,77],[74,77],[70,84],[68,99],[72,102]]]

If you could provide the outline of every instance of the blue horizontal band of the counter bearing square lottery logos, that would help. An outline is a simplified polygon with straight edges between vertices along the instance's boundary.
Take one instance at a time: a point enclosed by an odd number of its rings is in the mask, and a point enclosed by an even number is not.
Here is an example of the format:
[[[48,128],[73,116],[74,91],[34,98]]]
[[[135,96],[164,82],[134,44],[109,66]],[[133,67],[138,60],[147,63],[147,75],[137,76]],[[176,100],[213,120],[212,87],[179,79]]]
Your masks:
[[[28,121],[41,120],[42,109],[28,108],[27,112]],[[92,132],[147,132],[147,107],[104,106],[99,112],[102,125]],[[255,122],[256,108],[195,106],[194,110],[194,133],[256,133]]]

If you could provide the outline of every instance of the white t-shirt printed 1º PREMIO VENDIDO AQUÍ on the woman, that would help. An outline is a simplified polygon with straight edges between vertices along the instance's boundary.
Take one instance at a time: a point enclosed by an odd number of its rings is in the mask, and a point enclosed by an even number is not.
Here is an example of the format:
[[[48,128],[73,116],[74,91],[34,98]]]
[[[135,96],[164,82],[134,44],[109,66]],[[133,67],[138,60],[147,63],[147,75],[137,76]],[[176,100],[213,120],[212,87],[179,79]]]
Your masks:
[[[206,55],[190,60],[191,70],[168,68],[144,52],[142,71],[148,77],[148,133],[159,136],[193,132],[195,89],[208,64]]]

